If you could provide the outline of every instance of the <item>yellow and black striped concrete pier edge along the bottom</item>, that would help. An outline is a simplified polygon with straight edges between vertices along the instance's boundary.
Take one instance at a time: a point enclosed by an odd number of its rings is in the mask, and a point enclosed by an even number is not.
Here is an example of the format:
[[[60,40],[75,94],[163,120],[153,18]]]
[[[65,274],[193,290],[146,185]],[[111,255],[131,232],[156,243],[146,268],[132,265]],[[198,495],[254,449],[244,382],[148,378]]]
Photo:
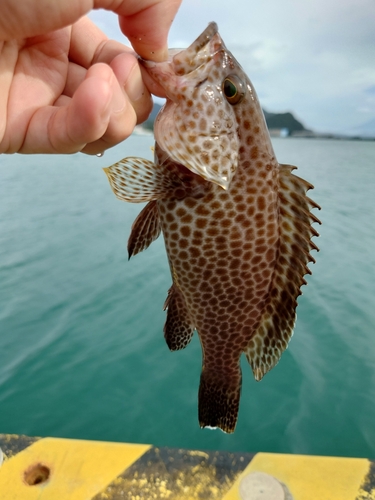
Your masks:
[[[375,461],[0,434],[1,500],[375,500]],[[0,460],[1,462],[1,460]]]

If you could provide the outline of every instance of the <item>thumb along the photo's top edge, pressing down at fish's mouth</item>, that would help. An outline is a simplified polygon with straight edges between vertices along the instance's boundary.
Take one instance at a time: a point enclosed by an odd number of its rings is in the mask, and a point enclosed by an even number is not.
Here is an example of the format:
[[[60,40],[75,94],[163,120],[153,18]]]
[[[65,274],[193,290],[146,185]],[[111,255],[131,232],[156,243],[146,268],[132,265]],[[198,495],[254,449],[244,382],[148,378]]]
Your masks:
[[[105,8],[120,16],[121,29],[141,57],[161,61],[167,58],[168,31],[180,3],[181,0],[123,0],[120,3],[113,0],[23,0],[20,4],[2,0],[0,40],[42,35],[75,24],[93,7]],[[98,32],[94,34],[94,45],[98,36]]]

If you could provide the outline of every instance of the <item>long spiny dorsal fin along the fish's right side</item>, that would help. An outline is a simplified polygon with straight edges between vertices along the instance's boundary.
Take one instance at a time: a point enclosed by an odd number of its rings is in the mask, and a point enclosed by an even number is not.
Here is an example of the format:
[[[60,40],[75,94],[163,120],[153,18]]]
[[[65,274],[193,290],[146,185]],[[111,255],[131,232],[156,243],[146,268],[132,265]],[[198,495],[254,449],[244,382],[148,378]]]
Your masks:
[[[320,221],[310,212],[319,208],[306,196],[311,184],[292,174],[296,167],[279,165],[280,244],[270,287],[259,326],[245,351],[256,380],[273,368],[288,346],[296,319],[297,297],[311,274],[307,264],[314,258],[310,250],[318,250],[311,241],[318,236],[311,226]]]

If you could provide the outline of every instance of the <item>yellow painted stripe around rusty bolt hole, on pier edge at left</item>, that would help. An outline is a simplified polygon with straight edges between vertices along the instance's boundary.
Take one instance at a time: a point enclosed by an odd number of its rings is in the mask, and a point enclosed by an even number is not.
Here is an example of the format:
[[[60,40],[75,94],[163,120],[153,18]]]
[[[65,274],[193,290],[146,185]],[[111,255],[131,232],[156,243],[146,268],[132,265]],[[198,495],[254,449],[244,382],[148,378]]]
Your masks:
[[[45,438],[0,467],[1,500],[88,500],[141,457],[150,445]],[[35,485],[25,471],[41,464],[49,479]]]

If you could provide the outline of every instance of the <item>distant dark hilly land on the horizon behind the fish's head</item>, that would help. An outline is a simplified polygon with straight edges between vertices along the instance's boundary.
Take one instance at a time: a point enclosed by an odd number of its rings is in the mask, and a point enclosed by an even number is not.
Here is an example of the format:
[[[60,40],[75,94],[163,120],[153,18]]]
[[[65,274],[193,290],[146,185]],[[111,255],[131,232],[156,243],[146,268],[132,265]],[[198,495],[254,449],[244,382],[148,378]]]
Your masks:
[[[154,107],[148,119],[142,123],[141,131],[152,131],[154,129],[154,121],[156,115],[161,109],[161,105],[154,103]],[[298,121],[293,113],[270,113],[263,109],[264,117],[266,119],[267,127],[271,137],[305,137],[311,139],[351,139],[351,140],[375,140],[375,137],[362,136],[362,134],[353,135],[339,135],[330,133],[319,133],[305,128],[305,126]]]

